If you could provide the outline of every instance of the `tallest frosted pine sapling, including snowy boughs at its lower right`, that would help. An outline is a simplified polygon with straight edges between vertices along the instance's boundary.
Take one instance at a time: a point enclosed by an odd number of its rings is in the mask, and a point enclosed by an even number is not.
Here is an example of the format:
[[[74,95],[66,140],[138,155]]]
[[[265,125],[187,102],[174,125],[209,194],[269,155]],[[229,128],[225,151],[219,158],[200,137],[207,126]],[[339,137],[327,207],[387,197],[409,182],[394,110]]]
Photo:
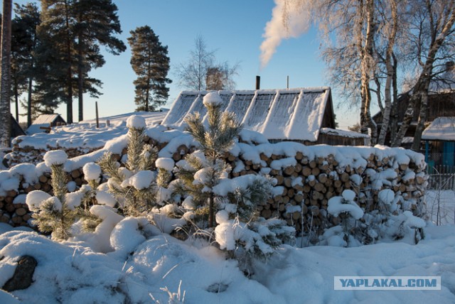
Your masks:
[[[200,143],[200,150],[177,163],[176,189],[188,195],[182,205],[193,205],[196,215],[208,213],[208,227],[215,228],[220,249],[250,273],[252,257],[273,254],[284,241],[294,238],[295,230],[281,219],[258,216],[257,207],[272,195],[273,180],[252,174],[228,178],[231,168],[223,156],[242,126],[234,114],[221,111],[218,93],[208,93],[203,103],[208,111],[207,126],[198,113],[186,119],[187,131]]]

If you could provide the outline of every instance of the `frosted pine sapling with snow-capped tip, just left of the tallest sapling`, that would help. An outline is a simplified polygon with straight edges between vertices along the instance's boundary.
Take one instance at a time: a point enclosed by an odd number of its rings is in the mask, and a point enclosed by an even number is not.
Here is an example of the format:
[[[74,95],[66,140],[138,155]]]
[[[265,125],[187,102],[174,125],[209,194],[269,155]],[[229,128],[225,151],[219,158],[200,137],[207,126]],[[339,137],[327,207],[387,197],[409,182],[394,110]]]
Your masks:
[[[120,203],[124,215],[137,216],[156,205],[156,173],[154,168],[158,150],[145,139],[145,119],[129,116],[127,120],[128,148],[124,167],[114,160],[112,153],[105,153],[100,167],[109,177],[109,192]]]

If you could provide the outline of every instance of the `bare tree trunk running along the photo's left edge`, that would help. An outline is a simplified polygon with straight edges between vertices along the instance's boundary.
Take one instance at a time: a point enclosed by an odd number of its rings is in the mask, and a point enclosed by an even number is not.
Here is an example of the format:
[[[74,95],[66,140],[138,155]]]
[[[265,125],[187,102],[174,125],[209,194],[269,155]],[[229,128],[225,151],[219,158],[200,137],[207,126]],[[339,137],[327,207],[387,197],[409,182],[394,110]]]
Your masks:
[[[1,22],[1,88],[0,88],[0,144],[11,146],[11,9],[12,1],[3,1],[3,18]]]

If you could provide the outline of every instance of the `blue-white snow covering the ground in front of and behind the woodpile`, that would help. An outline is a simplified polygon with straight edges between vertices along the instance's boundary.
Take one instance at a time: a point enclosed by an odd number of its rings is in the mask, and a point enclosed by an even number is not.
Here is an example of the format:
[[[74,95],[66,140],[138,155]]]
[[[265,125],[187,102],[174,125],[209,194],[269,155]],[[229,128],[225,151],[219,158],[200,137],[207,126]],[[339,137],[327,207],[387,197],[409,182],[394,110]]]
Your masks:
[[[60,127],[24,143],[61,139],[91,146],[126,134],[124,121],[119,117],[100,129],[93,122]],[[455,193],[428,191],[426,200],[430,221],[417,245],[407,238],[354,248],[286,245],[256,262],[250,278],[205,241],[183,242],[156,231],[146,239],[127,219],[110,235],[115,250],[107,254],[90,242],[57,243],[0,224],[0,286],[20,256],[38,261],[34,283],[11,294],[0,291],[0,303],[455,303]],[[441,226],[431,222],[437,222],[437,202]],[[336,291],[334,276],[440,276],[441,290]]]

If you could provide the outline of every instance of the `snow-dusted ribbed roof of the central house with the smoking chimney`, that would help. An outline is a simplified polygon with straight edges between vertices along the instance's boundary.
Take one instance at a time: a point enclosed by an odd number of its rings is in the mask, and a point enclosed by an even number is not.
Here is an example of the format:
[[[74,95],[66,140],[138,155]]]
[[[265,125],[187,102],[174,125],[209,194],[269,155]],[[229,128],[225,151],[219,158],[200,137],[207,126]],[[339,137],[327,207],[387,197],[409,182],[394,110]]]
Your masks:
[[[183,91],[161,123],[183,129],[186,115],[199,112],[206,121],[205,91]],[[258,89],[220,91],[223,110],[234,112],[245,129],[264,134],[267,139],[317,141],[326,104],[331,102],[329,87],[298,89]]]

